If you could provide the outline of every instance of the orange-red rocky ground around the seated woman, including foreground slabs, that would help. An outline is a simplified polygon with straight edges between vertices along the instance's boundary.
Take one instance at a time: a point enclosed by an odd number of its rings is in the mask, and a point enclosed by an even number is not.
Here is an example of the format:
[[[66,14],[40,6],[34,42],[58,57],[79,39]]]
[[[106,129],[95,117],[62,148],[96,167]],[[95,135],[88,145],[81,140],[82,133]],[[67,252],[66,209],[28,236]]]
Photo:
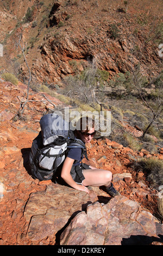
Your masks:
[[[26,99],[26,86],[2,80],[0,85],[1,245],[161,244],[156,191],[148,186],[142,172],[136,174],[130,166],[139,157],[152,155],[145,150],[134,152],[109,139],[88,145],[90,163],[114,174],[115,187],[121,193],[115,199],[99,188],[90,187],[90,194],[86,194],[52,181],[34,180],[28,174],[29,150],[40,130],[40,117],[53,105],[42,93],[30,90],[24,119],[13,122],[20,101]],[[58,99],[46,97],[55,106],[64,107]],[[155,157],[163,159],[162,154]]]

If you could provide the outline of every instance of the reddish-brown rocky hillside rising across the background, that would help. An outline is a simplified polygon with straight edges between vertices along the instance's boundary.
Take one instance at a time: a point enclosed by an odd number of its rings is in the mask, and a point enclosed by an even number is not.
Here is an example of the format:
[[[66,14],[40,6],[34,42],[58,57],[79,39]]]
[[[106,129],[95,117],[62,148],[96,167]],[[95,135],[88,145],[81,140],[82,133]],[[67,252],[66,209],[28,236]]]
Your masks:
[[[20,77],[28,77],[21,50],[14,47],[22,34],[30,69],[39,82],[57,83],[74,74],[74,63],[82,70],[93,58],[110,77],[129,71],[137,62],[144,75],[158,74],[162,4],[145,0],[128,3],[59,0],[24,5],[17,0],[4,8],[2,1],[3,69],[13,72],[19,66]],[[28,20],[27,8],[33,10]],[[24,16],[26,22],[21,23]]]

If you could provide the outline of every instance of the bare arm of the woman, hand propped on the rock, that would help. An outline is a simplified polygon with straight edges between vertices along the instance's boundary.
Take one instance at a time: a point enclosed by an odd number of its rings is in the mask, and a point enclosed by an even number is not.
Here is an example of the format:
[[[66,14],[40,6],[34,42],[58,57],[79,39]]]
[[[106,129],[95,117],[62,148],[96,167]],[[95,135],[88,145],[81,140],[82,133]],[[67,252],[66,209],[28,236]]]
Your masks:
[[[85,191],[85,192],[89,193],[89,190],[87,189],[87,187],[85,187],[83,185],[77,184],[72,179],[70,171],[71,171],[73,162],[74,162],[73,159],[71,159],[70,157],[66,157],[66,159],[64,161],[64,164],[62,166],[62,170],[61,170],[61,178],[64,179],[64,181],[68,185],[70,185],[71,187],[75,188],[76,190]]]

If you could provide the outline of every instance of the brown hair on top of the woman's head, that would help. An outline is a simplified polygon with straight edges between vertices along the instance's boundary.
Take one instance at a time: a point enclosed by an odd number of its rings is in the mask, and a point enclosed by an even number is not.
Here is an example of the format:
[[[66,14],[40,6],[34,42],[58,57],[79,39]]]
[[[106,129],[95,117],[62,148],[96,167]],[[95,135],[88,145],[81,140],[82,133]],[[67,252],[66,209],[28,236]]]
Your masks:
[[[76,130],[77,131],[85,131],[88,132],[90,131],[92,128],[95,128],[95,120],[93,120],[90,117],[81,117],[78,121],[77,121],[77,126],[76,126]]]

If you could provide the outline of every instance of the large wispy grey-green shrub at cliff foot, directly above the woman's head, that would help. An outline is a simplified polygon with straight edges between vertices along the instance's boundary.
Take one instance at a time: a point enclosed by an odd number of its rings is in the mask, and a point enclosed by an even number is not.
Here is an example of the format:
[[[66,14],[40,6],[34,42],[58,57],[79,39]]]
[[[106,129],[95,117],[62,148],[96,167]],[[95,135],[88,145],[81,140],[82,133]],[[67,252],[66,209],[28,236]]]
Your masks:
[[[104,81],[108,78],[108,72],[99,70],[95,60],[81,73],[77,72],[76,61],[71,60],[69,63],[76,75],[70,75],[63,80],[61,93],[71,98],[76,97],[79,101],[95,108],[97,101],[103,102],[105,99]]]

